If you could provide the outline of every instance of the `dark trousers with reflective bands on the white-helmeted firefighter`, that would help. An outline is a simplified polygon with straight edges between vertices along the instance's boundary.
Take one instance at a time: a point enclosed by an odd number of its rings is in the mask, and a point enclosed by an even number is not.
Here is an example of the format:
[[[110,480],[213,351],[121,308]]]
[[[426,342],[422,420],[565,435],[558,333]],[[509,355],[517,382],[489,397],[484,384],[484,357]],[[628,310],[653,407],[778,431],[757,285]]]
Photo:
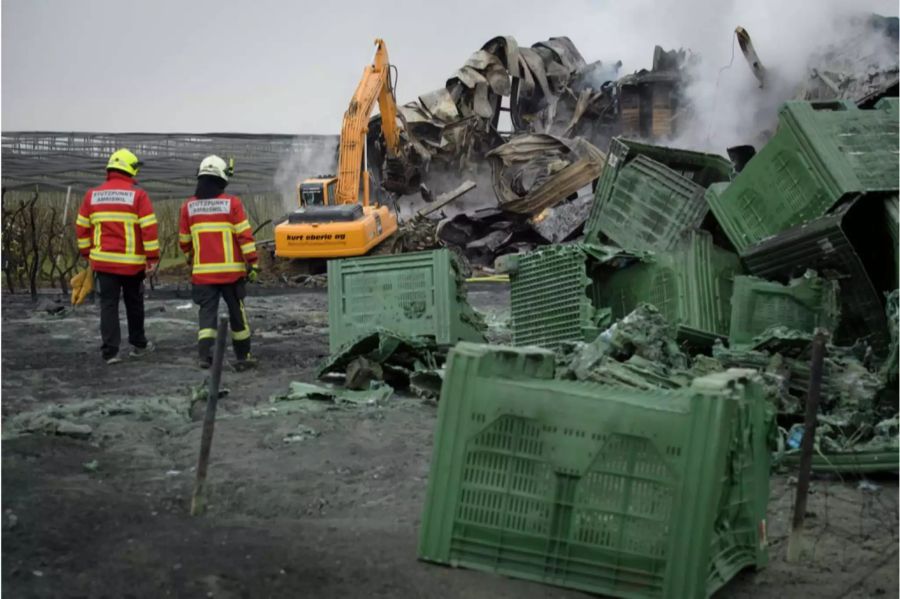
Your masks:
[[[197,332],[197,350],[201,358],[212,357],[216,341],[216,324],[219,315],[219,298],[228,307],[231,325],[231,342],[234,355],[243,360],[250,355],[250,323],[244,311],[247,287],[244,279],[224,285],[197,285],[191,291],[194,303],[200,306],[200,330]]]

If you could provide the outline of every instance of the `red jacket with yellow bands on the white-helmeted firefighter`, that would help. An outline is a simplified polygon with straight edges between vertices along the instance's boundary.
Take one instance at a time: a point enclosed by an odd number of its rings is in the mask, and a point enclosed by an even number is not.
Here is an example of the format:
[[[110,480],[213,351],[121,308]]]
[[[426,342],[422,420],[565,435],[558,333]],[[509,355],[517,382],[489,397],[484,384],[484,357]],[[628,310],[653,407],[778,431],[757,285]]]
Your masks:
[[[257,260],[256,242],[240,198],[191,197],[181,206],[178,243],[193,255],[191,281],[197,285],[234,283]]]

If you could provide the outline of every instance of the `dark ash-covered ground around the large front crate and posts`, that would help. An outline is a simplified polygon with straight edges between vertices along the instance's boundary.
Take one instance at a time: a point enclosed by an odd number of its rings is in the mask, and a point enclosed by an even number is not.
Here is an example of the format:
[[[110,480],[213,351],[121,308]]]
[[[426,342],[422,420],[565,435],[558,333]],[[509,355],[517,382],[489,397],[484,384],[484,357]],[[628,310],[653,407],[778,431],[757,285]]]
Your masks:
[[[489,322],[508,315],[505,286],[469,297]],[[54,315],[54,306],[18,296],[2,304],[10,597],[586,596],[416,560],[433,403],[401,394],[380,406],[270,402],[291,381],[314,382],[328,353],[324,291],[248,299],[261,367],[223,375],[230,393],[202,517],[188,513],[200,439],[191,388],[205,374],[194,366],[195,307],[148,300],[156,353],[108,367],[96,307]],[[60,421],[90,434],[42,432]],[[894,596],[896,475],[814,478],[815,549],[800,564],[785,562],[793,488],[788,474],[773,475],[769,567],[718,596]]]

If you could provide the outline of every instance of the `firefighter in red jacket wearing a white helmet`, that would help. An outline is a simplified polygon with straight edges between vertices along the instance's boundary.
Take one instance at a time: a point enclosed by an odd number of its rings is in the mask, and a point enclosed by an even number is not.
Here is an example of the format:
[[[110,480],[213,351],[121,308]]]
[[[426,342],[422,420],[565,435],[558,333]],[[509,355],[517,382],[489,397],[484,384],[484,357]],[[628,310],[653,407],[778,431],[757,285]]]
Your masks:
[[[197,172],[194,196],[181,206],[178,241],[191,260],[194,303],[200,306],[197,346],[200,367],[212,364],[219,298],[225,300],[231,324],[235,370],[256,366],[250,355],[250,324],[244,310],[245,281],[259,276],[256,244],[240,198],[225,193],[234,167],[207,156]]]

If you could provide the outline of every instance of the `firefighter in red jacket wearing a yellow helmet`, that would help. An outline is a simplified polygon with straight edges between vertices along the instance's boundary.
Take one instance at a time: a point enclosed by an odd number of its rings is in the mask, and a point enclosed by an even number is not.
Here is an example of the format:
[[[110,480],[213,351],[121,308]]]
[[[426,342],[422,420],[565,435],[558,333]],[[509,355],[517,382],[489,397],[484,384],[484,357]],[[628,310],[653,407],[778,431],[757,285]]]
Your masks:
[[[100,348],[107,364],[121,362],[119,295],[125,300],[133,356],[153,350],[144,334],[144,276],[159,262],[156,216],[147,192],[134,180],[141,162],[130,151],[113,152],[106,182],[89,189],[78,209],[75,234],[81,255],[97,273]]]

